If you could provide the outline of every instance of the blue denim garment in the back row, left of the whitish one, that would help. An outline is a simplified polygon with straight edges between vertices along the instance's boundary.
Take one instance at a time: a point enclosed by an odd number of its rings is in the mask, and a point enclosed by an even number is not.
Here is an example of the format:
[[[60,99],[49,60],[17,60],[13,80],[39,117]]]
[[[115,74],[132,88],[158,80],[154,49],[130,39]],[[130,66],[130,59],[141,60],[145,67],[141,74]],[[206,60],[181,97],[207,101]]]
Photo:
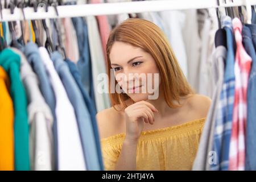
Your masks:
[[[76,30],[77,44],[79,46],[80,58],[77,61],[77,68],[81,75],[82,85],[85,91],[89,93],[92,99],[92,106],[96,109],[96,104],[94,100],[94,88],[93,88],[93,78],[92,78],[92,64],[90,60],[90,48],[88,40],[88,28],[84,19],[72,18],[73,26]]]

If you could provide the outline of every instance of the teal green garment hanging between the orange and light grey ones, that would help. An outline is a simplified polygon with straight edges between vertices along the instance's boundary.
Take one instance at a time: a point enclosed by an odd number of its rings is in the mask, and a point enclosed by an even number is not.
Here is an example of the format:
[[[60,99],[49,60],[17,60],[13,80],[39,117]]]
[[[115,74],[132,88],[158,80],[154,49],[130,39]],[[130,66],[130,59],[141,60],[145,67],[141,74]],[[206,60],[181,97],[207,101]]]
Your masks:
[[[14,156],[15,170],[30,170],[28,145],[27,97],[20,80],[20,57],[11,49],[0,53],[0,65],[11,81],[11,97],[14,105]]]

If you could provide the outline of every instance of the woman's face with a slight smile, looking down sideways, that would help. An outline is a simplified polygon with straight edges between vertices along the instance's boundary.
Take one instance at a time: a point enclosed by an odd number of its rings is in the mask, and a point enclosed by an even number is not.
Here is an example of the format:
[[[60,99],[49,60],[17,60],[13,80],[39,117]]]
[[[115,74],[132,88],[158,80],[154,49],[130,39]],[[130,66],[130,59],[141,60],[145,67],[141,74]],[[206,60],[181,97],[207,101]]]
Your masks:
[[[127,43],[115,42],[109,57],[115,80],[133,101],[148,100],[149,95],[158,92],[159,69],[150,53]]]

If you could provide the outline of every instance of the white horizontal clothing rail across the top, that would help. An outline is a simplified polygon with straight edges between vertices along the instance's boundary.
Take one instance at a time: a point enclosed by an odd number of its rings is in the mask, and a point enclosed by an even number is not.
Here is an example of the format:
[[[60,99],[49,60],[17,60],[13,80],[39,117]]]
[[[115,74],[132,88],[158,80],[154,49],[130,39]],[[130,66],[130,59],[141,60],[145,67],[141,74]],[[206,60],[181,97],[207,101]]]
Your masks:
[[[220,5],[218,5],[218,2]],[[38,7],[35,12],[33,7],[24,8],[25,18],[46,19],[46,18],[68,18],[89,15],[111,15],[122,13],[143,13],[150,11],[166,11],[166,10],[186,10],[186,9],[208,9],[216,7],[234,7],[234,6],[250,6],[256,5],[256,0],[162,0],[162,1],[133,1],[133,2],[116,2],[116,3],[98,3],[85,5],[65,5],[57,6],[58,14],[54,7],[49,6],[48,12],[42,7]],[[0,22],[10,22],[14,20],[23,20],[22,9],[15,7],[14,13],[11,14],[10,9],[2,9],[2,19]]]

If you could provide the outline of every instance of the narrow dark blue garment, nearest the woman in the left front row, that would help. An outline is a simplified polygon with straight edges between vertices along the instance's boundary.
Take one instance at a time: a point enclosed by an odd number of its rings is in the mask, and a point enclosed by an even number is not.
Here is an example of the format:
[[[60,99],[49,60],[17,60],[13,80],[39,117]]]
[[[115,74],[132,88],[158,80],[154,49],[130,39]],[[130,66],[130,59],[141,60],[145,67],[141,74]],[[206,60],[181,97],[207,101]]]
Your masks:
[[[82,97],[84,98],[84,102],[89,110],[90,119],[91,119],[92,125],[93,125],[94,137],[95,137],[96,145],[97,145],[97,154],[100,159],[100,167],[101,167],[100,170],[104,171],[102,154],[101,154],[101,146],[100,146],[100,137],[98,134],[98,126],[97,126],[97,121],[96,121],[96,109],[92,106],[92,100],[90,99],[89,94],[85,91],[84,87],[82,86],[80,73],[79,73],[76,65],[68,59],[66,59],[65,61],[68,64],[69,71],[72,73],[73,78],[75,78],[75,81],[76,81],[77,85],[79,86],[79,89],[82,93]]]

